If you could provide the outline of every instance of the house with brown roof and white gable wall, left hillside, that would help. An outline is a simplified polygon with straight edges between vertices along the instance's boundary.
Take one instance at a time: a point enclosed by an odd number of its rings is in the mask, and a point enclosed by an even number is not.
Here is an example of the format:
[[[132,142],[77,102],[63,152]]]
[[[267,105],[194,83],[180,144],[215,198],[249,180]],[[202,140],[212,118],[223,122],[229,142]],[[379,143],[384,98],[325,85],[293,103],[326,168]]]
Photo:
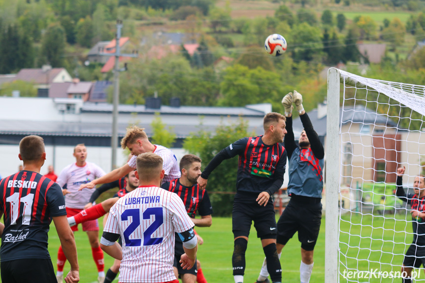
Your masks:
[[[65,68],[43,65],[37,69],[21,69],[13,80],[31,82],[37,89],[49,89],[52,83],[72,82],[72,77]]]

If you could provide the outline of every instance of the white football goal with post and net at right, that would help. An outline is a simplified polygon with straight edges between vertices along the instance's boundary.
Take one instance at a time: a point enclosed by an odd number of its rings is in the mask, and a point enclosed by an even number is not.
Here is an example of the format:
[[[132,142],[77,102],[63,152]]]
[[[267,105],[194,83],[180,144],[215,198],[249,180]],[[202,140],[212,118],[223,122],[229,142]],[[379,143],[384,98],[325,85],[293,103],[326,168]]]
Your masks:
[[[413,194],[425,168],[424,95],[425,86],[329,70],[326,283],[402,281],[412,222],[425,227],[425,219],[413,220],[396,197],[396,170],[405,167]],[[423,267],[414,271],[412,282],[425,282]]]

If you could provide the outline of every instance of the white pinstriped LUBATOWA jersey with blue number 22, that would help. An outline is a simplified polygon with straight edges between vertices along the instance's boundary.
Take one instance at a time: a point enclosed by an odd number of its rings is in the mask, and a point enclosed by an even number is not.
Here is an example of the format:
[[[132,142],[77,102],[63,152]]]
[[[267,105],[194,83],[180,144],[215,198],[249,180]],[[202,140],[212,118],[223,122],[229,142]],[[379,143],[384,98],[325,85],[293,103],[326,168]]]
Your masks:
[[[158,187],[139,187],[109,210],[104,232],[123,241],[119,282],[168,282],[173,272],[174,233],[194,227],[180,197]]]

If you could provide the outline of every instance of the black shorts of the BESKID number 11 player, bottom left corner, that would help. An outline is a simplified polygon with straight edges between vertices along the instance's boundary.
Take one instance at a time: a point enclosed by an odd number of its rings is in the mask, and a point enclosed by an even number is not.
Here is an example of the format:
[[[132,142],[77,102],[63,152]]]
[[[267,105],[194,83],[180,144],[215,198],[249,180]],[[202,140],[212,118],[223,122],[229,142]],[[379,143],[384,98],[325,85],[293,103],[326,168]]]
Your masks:
[[[52,260],[24,258],[0,262],[1,282],[57,283]]]

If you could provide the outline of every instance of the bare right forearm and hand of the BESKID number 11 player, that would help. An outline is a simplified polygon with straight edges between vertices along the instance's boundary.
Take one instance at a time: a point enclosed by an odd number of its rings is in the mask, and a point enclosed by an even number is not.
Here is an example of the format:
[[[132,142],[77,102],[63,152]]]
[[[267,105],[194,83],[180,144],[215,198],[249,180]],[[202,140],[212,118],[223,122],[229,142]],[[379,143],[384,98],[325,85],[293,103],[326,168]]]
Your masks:
[[[62,250],[64,251],[66,259],[71,265],[71,270],[66,275],[65,282],[79,282],[80,276],[74,234],[69,227],[65,215],[53,217],[53,222],[55,223],[56,231],[58,233],[59,240],[61,241]]]

